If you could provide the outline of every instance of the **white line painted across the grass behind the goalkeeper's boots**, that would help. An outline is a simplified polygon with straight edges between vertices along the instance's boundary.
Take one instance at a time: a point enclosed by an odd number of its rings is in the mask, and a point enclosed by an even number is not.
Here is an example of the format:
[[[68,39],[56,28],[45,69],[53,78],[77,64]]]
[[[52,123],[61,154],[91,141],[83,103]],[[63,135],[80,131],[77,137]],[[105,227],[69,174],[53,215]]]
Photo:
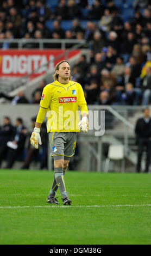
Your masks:
[[[112,205],[26,205],[26,206],[0,206],[0,209],[22,209],[22,208],[108,208],[108,207],[139,207],[151,206],[151,204],[112,204]]]

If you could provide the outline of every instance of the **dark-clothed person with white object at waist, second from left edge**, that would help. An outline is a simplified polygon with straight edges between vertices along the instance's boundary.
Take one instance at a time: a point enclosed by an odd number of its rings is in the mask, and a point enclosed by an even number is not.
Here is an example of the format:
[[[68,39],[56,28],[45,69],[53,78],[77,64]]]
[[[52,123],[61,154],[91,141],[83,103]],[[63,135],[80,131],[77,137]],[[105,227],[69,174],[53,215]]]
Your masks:
[[[23,125],[21,118],[16,119],[15,135],[12,141],[7,143],[9,147],[8,160],[6,168],[11,168],[15,163],[17,156],[23,152],[26,142],[27,129]]]

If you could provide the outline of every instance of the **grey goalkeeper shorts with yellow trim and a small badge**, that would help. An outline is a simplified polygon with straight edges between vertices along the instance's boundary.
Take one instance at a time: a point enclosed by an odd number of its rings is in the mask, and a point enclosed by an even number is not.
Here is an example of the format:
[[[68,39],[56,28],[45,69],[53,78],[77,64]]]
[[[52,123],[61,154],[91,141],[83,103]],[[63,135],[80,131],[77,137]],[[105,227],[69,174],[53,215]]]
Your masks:
[[[76,132],[50,132],[49,143],[54,160],[70,160],[75,151]]]

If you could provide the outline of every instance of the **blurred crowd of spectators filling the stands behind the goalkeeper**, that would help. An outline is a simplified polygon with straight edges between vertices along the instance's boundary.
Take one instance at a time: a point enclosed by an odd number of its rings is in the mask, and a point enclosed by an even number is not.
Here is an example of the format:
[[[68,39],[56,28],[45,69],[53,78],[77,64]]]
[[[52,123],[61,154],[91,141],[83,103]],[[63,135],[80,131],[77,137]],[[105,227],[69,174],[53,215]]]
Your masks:
[[[124,7],[131,1],[121,2]],[[134,16],[127,19],[122,16],[121,8],[114,0],[60,0],[53,8],[43,0],[3,0],[0,39],[85,39],[91,61],[87,63],[86,56],[81,55],[73,66],[72,76],[83,86],[87,103],[148,105],[151,96],[150,1],[133,1]],[[81,21],[85,10],[84,28]],[[52,28],[46,26],[50,20]],[[61,27],[64,20],[72,20],[71,29]],[[13,42],[0,44],[2,49],[14,47]],[[27,42],[24,47],[36,45]],[[39,103],[41,91],[37,90],[30,102],[23,92],[14,99],[2,93],[0,96],[11,103]]]

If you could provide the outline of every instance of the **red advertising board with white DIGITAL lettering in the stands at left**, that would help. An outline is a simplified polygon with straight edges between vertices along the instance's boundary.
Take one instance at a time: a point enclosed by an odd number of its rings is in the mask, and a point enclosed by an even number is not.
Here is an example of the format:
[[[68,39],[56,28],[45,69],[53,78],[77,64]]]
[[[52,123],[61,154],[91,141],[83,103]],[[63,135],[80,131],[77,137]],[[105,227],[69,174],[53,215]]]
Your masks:
[[[53,69],[60,60],[70,59],[79,52],[73,50],[66,55],[66,50],[1,50],[0,76],[21,77],[34,71],[32,77],[36,77]],[[55,60],[56,57],[59,58]]]

